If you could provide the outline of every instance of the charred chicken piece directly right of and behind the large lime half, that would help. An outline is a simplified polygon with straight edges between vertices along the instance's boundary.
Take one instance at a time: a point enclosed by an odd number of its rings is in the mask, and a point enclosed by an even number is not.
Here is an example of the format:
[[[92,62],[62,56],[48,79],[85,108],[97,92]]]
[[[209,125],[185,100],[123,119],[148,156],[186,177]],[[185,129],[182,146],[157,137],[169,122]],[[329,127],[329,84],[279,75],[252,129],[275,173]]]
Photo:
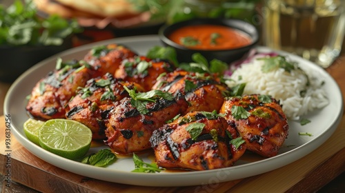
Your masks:
[[[90,79],[85,88],[78,90],[77,96],[66,106],[66,118],[88,126],[92,131],[92,139],[106,139],[105,119],[110,110],[115,108],[115,101],[129,96],[124,86],[143,92],[137,83],[119,81],[112,74]]]

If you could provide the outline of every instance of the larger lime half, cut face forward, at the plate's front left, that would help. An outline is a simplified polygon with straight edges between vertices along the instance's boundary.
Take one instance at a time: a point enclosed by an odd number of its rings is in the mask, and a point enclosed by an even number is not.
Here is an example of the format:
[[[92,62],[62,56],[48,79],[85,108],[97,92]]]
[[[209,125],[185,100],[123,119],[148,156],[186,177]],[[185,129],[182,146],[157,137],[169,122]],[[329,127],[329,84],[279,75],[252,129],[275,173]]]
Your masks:
[[[39,129],[39,144],[45,150],[67,159],[78,159],[90,149],[91,130],[77,121],[50,119]]]

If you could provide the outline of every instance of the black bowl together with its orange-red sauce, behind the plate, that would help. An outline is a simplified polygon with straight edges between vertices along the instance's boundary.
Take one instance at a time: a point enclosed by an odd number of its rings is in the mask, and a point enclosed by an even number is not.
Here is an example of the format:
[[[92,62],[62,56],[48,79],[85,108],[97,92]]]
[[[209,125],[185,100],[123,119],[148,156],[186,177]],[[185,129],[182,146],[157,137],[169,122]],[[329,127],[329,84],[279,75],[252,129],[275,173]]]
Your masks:
[[[192,55],[200,53],[207,61],[231,63],[258,43],[259,33],[239,19],[195,18],[161,27],[159,38],[165,46],[175,48],[179,62],[191,62]]]

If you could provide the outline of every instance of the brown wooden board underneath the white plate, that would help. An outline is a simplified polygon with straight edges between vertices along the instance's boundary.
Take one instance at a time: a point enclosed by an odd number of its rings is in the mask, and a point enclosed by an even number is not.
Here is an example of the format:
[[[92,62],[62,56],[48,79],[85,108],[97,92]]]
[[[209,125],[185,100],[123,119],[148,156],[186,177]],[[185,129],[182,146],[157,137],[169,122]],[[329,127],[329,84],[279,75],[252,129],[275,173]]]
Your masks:
[[[345,55],[328,68],[345,96]],[[344,99],[343,99],[344,100]],[[0,116],[0,173],[5,176],[9,159],[5,148],[4,117]],[[315,151],[289,165],[257,176],[213,185],[141,187],[90,179],[37,158],[11,136],[10,183],[21,183],[40,192],[315,192],[345,171],[345,115],[335,133]]]

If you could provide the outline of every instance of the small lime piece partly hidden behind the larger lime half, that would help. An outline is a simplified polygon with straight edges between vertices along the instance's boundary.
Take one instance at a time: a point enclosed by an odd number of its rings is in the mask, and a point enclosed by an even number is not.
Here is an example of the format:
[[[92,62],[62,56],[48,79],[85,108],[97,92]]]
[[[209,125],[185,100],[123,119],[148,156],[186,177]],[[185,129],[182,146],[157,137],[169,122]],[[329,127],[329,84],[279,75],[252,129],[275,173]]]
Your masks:
[[[41,125],[43,125],[43,123],[44,121],[28,119],[23,124],[26,137],[37,145],[39,145],[39,128],[41,128]]]

